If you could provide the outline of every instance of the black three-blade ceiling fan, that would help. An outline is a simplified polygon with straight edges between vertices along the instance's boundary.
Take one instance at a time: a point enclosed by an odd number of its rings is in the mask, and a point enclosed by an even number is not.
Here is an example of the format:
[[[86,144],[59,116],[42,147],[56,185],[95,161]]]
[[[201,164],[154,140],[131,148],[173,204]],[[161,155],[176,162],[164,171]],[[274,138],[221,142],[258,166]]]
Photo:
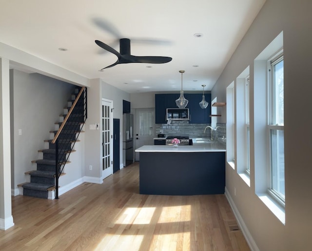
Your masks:
[[[114,64],[104,67],[103,69],[113,67],[117,64],[128,64],[128,63],[164,64],[172,60],[172,57],[168,57],[168,56],[134,56],[134,55],[131,55],[129,38],[119,39],[120,53],[118,53],[115,49],[113,49],[107,44],[104,44],[103,42],[99,40],[95,40],[95,42],[99,47],[103,48],[104,50],[112,54],[115,54],[118,58]]]

